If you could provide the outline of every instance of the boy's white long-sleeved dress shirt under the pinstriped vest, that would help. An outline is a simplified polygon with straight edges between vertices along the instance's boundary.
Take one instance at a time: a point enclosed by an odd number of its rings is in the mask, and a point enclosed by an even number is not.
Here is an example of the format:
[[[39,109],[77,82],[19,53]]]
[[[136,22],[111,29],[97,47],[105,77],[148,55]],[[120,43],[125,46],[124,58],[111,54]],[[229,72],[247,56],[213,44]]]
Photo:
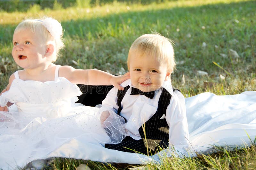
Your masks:
[[[130,85],[132,87],[130,79],[124,81],[121,85],[123,87]],[[163,88],[172,95],[170,104],[166,109],[166,115],[163,114],[161,117],[166,119],[170,127],[169,146],[174,146],[175,150],[184,153],[189,146],[185,100],[180,91],[175,90],[173,92],[170,81],[164,81],[162,87],[155,91],[153,99],[144,95],[130,95],[131,88],[127,90],[121,102],[122,110],[120,113],[120,116],[127,120],[124,124],[125,132],[127,136],[133,139],[141,139],[139,128],[156,113],[158,100]],[[100,113],[106,110],[117,113],[119,108],[117,105],[117,91],[118,89],[113,88],[108,92],[108,95],[102,101]]]

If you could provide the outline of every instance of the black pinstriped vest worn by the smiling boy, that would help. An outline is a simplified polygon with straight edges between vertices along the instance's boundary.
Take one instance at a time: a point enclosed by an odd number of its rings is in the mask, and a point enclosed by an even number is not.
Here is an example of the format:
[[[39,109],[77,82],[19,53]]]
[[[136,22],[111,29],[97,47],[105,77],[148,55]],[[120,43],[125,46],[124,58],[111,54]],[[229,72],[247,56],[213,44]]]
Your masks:
[[[123,91],[118,90],[117,92],[117,105],[119,106],[117,110],[118,115],[120,115],[122,110],[121,102],[129,88],[130,86],[128,85]],[[173,91],[174,90],[175,89],[173,89]],[[160,118],[163,115],[166,115],[166,109],[170,104],[171,97],[172,95],[163,88],[158,100],[156,113],[139,128],[140,137],[142,138],[145,147],[148,148],[149,153],[151,152],[152,154],[155,154],[156,152],[161,151],[160,148],[165,149],[169,145],[169,125],[165,118]]]

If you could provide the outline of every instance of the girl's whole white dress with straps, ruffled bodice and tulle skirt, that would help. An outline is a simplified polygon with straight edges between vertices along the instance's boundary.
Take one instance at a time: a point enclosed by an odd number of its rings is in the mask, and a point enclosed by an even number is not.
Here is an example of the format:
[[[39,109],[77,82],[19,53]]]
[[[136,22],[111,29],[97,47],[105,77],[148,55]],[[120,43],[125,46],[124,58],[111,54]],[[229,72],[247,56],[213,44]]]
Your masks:
[[[97,109],[75,103],[82,93],[64,77],[47,82],[23,81],[18,71],[0,105],[15,103],[0,112],[0,169],[23,167],[45,158],[64,143],[76,139],[88,143],[118,143],[123,139],[124,119],[112,115],[111,124],[101,127]],[[18,110],[18,111],[17,111]]]

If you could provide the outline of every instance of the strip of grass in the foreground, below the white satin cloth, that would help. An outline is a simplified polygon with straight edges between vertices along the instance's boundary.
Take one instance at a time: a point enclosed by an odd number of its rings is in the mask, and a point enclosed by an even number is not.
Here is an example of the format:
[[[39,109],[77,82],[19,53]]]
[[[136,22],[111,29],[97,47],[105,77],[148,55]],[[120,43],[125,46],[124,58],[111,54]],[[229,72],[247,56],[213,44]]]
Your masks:
[[[194,158],[162,158],[161,164],[148,163],[147,165],[128,165],[128,164],[106,164],[88,160],[58,158],[54,165],[49,168],[53,169],[76,169],[80,164],[86,164],[91,169],[255,169],[256,168],[256,147],[244,146],[242,148],[215,148],[218,152],[208,155],[198,155]]]

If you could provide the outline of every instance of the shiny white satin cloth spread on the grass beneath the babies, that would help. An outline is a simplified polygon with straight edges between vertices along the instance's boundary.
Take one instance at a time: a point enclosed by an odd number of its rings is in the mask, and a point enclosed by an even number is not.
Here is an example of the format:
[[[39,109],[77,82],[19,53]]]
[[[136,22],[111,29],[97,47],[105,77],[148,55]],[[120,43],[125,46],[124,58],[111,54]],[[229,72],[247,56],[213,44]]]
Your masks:
[[[197,152],[209,152],[212,145],[251,145],[256,136],[256,91],[246,91],[238,95],[216,96],[202,93],[185,99],[192,144],[189,156]],[[248,137],[250,136],[250,138]],[[73,139],[49,153],[33,153],[24,162],[50,157],[66,157],[100,162],[144,164],[159,161],[158,155],[145,156],[104,148],[99,143],[88,143]]]

